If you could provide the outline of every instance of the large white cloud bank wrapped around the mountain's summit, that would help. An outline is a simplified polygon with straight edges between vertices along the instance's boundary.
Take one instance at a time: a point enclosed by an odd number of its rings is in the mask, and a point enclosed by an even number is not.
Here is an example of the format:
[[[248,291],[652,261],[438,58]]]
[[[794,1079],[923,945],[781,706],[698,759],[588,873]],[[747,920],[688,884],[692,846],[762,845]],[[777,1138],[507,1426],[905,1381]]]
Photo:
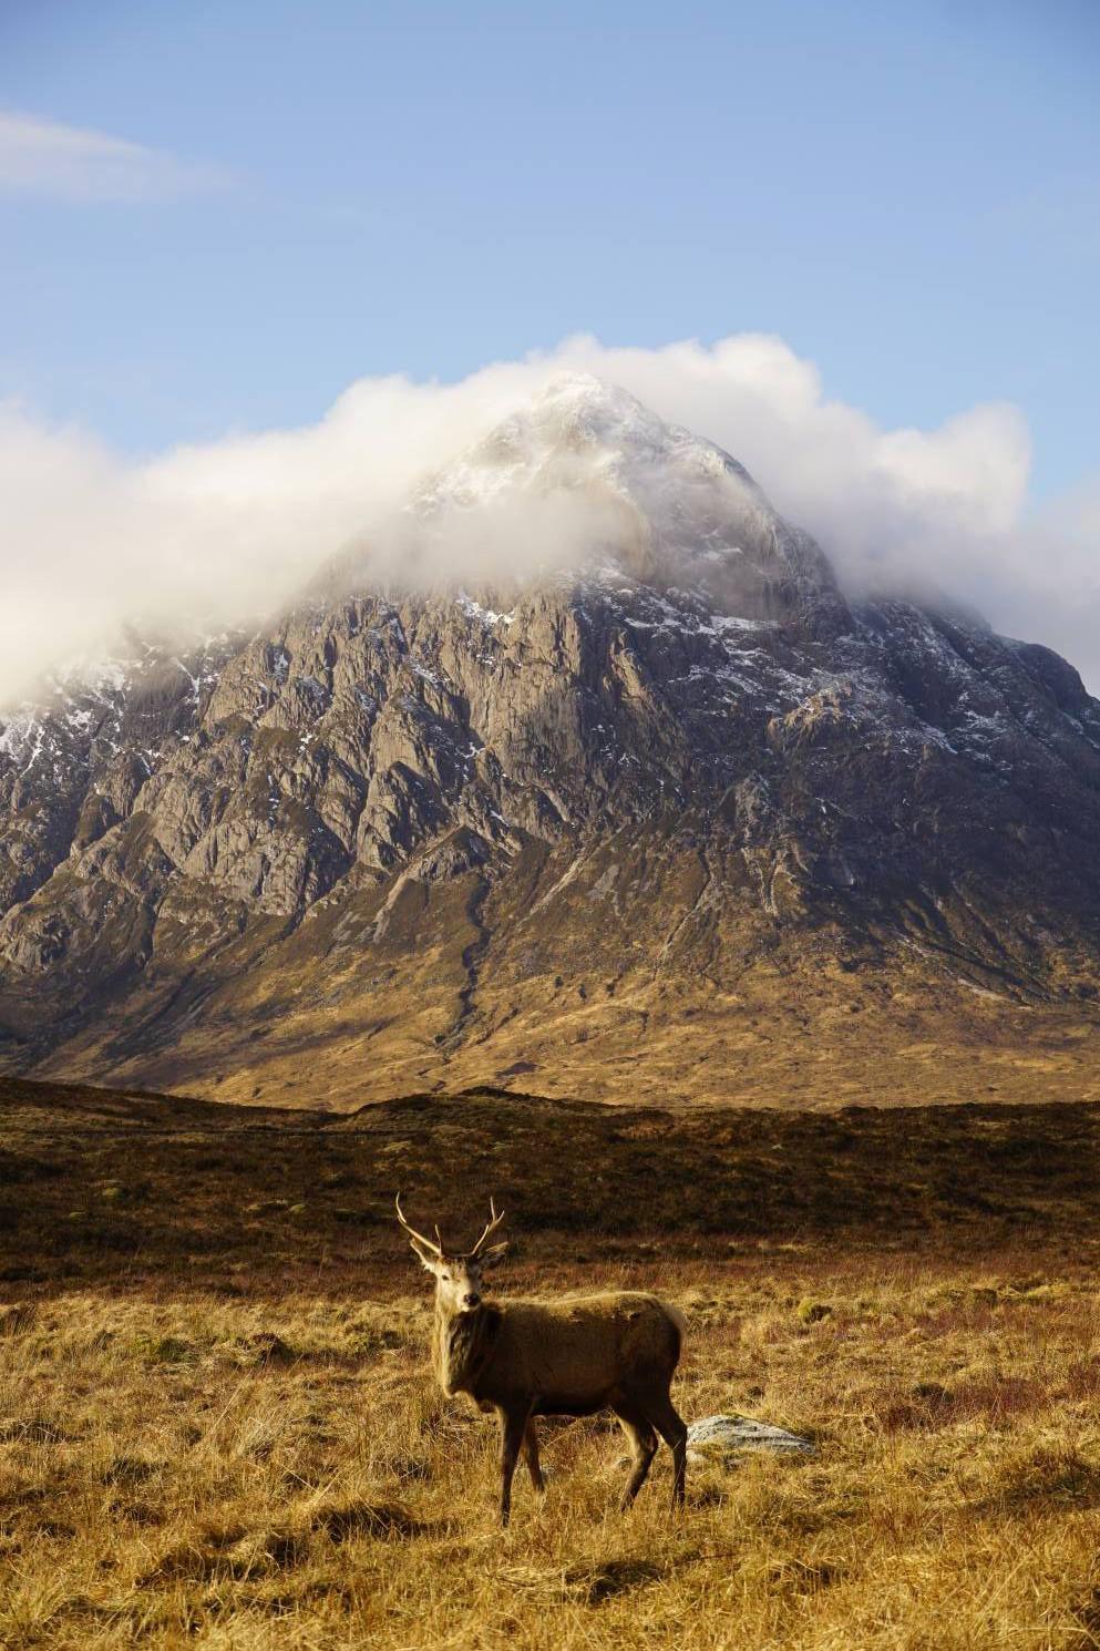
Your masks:
[[[45,667],[112,646],[127,619],[216,626],[277,606],[391,522],[418,477],[571,368],[733,452],[821,540],[847,589],[945,593],[1065,652],[1100,687],[1100,479],[1031,512],[1019,409],[993,403],[936,429],[882,429],[829,400],[780,338],[633,350],[581,337],[458,383],[362,378],[317,424],[142,462],[0,406],[0,702]],[[583,530],[573,512],[543,512],[540,553]],[[514,555],[515,537],[504,537]],[[472,538],[449,540],[454,571],[474,563]]]

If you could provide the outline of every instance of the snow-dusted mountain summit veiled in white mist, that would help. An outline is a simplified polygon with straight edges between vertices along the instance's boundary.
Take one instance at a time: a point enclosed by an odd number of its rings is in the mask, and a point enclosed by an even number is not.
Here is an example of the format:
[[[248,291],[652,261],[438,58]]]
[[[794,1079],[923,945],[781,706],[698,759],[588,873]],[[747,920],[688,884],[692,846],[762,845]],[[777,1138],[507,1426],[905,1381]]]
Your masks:
[[[522,561],[527,583],[613,563],[747,619],[842,609],[824,555],[737,459],[591,373],[552,378],[428,477],[410,513],[439,538],[507,535],[504,565],[514,578]]]

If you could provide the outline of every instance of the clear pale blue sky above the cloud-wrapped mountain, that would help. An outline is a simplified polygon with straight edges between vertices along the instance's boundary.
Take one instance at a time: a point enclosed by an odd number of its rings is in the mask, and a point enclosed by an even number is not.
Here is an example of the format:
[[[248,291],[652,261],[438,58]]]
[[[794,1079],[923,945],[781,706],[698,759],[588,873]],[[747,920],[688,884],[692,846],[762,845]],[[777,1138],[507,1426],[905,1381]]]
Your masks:
[[[1100,5],[0,0],[0,396],[130,454],[583,330],[1100,467]],[[33,139],[33,142],[31,142]],[[64,170],[68,167],[68,172]]]

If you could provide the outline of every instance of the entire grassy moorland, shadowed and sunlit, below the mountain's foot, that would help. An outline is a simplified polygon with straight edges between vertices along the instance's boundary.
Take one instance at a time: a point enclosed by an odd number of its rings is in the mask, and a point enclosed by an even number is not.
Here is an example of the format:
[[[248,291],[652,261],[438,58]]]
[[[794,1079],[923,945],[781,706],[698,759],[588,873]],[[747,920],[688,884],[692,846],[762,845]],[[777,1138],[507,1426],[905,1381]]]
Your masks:
[[[1100,1644],[1095,1108],[606,1113],[482,1093],[353,1118],[0,1090],[0,1644]],[[502,1291],[644,1284],[674,1397],[811,1459],[494,1428],[426,1370],[444,1237]]]

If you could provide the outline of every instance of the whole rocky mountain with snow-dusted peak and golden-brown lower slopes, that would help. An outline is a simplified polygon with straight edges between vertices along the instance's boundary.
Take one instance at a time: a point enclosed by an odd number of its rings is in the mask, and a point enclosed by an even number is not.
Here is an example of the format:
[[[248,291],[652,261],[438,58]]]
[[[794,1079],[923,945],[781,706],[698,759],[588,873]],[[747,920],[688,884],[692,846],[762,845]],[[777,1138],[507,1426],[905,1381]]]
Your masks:
[[[0,720],[8,1070],[332,1106],[1097,1088],[1100,703],[1062,659],[846,601],[733,459],[595,380],[395,543]]]

